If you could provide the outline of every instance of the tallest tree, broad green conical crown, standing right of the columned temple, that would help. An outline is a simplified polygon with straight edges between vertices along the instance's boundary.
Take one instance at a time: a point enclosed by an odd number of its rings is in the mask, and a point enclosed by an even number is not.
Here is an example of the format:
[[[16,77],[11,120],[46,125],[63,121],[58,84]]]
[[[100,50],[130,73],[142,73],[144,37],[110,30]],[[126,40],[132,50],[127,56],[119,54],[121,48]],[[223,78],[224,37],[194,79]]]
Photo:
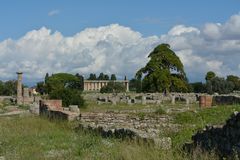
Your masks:
[[[143,75],[143,91],[163,92],[188,90],[187,77],[179,57],[169,44],[160,44],[149,54],[149,62],[138,70],[136,78]]]

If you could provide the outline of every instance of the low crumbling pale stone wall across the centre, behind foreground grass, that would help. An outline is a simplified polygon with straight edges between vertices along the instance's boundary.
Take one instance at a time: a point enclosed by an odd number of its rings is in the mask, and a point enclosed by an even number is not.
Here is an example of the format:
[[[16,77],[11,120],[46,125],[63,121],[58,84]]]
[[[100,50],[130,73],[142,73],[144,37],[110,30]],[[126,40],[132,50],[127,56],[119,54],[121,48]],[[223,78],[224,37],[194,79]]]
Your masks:
[[[98,132],[104,137],[129,137],[152,141],[158,147],[169,149],[171,139],[160,137],[166,130],[178,131],[178,125],[169,123],[169,116],[144,116],[124,113],[82,113],[80,128]]]

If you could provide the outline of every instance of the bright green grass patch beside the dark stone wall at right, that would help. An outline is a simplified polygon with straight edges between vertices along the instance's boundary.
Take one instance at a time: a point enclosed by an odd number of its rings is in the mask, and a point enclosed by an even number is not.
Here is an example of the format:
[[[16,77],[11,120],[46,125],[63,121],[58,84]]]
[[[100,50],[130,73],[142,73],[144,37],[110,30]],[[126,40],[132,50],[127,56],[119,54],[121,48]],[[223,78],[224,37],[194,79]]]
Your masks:
[[[173,123],[180,124],[181,129],[178,133],[165,133],[165,136],[171,137],[173,146],[179,148],[187,141],[191,141],[192,135],[206,125],[225,124],[234,111],[240,111],[240,106],[217,106],[173,114]]]

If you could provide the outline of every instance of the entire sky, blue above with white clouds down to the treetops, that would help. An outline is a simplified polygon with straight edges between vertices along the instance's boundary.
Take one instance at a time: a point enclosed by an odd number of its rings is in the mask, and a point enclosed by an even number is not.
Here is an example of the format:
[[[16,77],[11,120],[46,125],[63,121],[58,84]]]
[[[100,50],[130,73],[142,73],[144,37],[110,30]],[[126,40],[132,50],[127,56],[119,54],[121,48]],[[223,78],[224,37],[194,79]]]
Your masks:
[[[46,72],[132,78],[169,43],[190,82],[240,76],[240,0],[1,0],[0,79]]]

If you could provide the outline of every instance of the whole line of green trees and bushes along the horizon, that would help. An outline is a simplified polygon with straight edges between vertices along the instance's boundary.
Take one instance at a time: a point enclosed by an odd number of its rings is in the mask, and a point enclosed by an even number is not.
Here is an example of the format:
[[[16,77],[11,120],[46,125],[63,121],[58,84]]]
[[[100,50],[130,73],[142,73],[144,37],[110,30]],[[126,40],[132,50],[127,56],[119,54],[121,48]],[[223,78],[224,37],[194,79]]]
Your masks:
[[[217,76],[209,71],[205,76],[205,83],[189,83],[184,66],[176,53],[171,50],[169,44],[160,44],[148,55],[149,61],[140,68],[133,79],[129,81],[129,89],[134,92],[196,92],[196,93],[219,93],[225,94],[240,90],[239,77],[229,75],[226,78]],[[101,93],[125,92],[123,84],[116,82],[116,75],[100,73],[98,76],[91,73],[87,80],[111,80],[107,86],[101,89]],[[126,77],[125,77],[126,80]],[[37,83],[36,90],[42,95],[49,95],[50,98],[69,95],[64,100],[64,105],[74,101],[75,104],[83,103],[71,100],[70,97],[78,95],[84,90],[84,77],[80,74],[57,73],[51,76],[47,73],[44,81]],[[15,95],[16,81],[0,81],[0,95]],[[81,99],[81,98],[80,98]]]

